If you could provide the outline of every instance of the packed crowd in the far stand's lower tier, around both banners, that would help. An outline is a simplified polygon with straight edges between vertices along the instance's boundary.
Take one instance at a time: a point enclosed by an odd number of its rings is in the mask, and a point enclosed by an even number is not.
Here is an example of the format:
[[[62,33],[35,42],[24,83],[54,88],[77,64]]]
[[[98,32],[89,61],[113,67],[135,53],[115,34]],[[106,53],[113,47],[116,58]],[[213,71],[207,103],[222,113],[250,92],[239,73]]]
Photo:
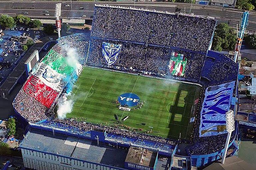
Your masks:
[[[122,46],[116,62],[111,66],[107,66],[102,54],[102,42],[104,42],[104,40],[91,39],[86,64],[134,72],[151,72],[155,75],[166,75],[169,73],[167,66],[172,50],[168,47],[108,41],[114,44],[122,44]],[[185,50],[173,51],[183,54],[187,58],[184,78],[188,80],[199,80],[205,55]]]

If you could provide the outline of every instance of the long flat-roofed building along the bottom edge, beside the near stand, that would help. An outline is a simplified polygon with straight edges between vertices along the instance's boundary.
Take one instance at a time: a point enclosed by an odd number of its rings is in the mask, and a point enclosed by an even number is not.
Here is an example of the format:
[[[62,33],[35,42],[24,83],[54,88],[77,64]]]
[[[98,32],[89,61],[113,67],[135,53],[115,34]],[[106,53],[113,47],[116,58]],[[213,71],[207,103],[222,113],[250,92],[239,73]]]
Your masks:
[[[26,168],[124,170],[126,163],[143,166],[143,170],[165,170],[168,158],[158,158],[158,152],[131,147],[116,147],[93,140],[70,137],[31,128],[20,144]],[[136,150],[136,153],[135,153]],[[137,157],[138,159],[136,159]],[[160,161],[157,161],[157,160]],[[158,165],[157,165],[158,164]],[[154,168],[155,167],[155,168]]]

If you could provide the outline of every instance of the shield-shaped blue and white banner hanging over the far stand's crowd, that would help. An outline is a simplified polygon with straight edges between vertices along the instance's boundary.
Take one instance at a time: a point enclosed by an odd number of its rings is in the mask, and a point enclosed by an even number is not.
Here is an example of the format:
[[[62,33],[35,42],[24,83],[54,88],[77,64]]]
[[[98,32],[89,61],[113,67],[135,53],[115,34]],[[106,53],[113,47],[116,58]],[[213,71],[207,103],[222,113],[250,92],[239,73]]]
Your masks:
[[[114,64],[118,59],[122,44],[102,42],[102,54],[108,66]]]

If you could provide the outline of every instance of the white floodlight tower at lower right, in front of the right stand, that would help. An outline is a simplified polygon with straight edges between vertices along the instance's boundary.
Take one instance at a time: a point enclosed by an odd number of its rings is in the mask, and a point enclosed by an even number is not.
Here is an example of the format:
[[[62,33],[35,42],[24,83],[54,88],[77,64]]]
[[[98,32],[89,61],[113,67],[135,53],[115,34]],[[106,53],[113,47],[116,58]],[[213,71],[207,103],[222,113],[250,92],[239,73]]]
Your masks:
[[[226,130],[228,131],[228,136],[227,136],[224,152],[222,155],[222,160],[221,160],[222,164],[224,164],[224,162],[225,162],[225,158],[226,158],[227,151],[228,151],[228,144],[229,144],[229,141],[231,138],[231,133],[232,133],[232,131],[235,130],[234,112],[232,110],[229,110],[226,113]]]

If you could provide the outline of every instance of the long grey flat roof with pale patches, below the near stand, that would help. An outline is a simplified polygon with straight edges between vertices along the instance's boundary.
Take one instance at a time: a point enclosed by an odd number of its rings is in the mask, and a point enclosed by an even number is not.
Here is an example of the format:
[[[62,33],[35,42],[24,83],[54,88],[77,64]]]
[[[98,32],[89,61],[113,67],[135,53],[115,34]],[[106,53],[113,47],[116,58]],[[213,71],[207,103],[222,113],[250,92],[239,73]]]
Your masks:
[[[27,139],[27,140],[26,140]],[[104,143],[31,129],[20,147],[53,153],[79,160],[124,168],[127,149]]]

